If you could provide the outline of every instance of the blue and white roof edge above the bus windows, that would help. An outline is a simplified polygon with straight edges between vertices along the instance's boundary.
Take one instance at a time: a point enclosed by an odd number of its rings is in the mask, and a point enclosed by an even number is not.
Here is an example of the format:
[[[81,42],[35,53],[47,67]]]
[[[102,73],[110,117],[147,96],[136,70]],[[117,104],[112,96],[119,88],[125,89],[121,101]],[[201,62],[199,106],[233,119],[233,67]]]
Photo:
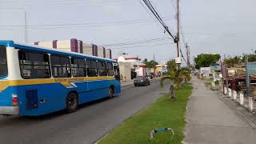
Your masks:
[[[35,51],[46,52],[46,53],[50,53],[50,54],[62,54],[62,55],[66,55],[66,56],[73,56],[73,57],[80,57],[80,58],[93,58],[95,60],[116,62],[112,59],[99,58],[99,57],[95,57],[95,56],[92,56],[89,54],[79,54],[79,53],[74,53],[74,52],[66,52],[66,51],[58,50],[58,49],[54,49],[54,48],[46,48],[46,47],[35,46],[35,45],[26,45],[26,44],[17,43],[17,42],[10,41],[10,40],[6,40],[6,41],[1,40],[0,45],[6,46],[6,47],[16,47],[18,49],[24,49],[24,50],[35,50]]]

